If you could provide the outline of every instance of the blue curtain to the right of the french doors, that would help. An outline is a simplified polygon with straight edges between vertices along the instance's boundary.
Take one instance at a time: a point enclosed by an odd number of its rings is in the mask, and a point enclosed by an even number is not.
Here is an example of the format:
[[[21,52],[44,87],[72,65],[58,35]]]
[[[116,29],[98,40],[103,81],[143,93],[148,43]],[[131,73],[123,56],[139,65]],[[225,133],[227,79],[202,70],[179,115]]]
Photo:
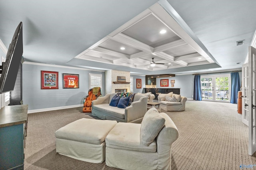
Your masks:
[[[240,78],[238,72],[231,73],[231,99],[230,103],[237,104],[237,95],[238,91],[240,90]]]

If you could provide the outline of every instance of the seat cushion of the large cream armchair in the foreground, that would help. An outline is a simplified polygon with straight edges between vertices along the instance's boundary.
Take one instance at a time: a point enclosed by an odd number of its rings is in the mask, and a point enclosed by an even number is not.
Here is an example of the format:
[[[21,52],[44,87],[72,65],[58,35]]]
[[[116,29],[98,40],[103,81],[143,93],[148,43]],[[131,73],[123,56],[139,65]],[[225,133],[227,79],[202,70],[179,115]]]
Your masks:
[[[138,152],[156,152],[156,140],[145,146],[140,142],[140,124],[119,122],[107,135],[106,147]]]

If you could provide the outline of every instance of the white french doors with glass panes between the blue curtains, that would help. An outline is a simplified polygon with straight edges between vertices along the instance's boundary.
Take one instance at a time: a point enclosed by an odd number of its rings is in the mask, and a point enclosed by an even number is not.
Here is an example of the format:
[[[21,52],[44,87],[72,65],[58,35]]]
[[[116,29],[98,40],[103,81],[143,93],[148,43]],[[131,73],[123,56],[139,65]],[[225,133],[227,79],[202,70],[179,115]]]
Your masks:
[[[202,100],[230,102],[230,86],[229,74],[201,76]]]

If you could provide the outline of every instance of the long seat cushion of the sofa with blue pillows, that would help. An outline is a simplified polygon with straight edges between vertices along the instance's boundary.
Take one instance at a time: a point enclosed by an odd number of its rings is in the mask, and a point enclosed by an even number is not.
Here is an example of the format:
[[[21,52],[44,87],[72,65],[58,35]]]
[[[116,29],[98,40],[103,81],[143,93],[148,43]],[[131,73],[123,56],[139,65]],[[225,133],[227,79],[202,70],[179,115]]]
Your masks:
[[[124,119],[125,109],[122,108],[109,106],[109,104],[97,104],[93,106],[93,109],[98,112],[111,115],[112,117]]]

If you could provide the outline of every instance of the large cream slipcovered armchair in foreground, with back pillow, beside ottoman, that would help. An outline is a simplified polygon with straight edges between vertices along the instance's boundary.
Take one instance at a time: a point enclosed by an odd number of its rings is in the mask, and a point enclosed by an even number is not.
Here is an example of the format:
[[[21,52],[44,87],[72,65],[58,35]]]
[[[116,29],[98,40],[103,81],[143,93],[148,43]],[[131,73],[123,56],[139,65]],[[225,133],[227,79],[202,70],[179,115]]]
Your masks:
[[[118,123],[106,137],[106,165],[124,170],[170,170],[178,129],[166,113],[151,108],[142,123]]]

